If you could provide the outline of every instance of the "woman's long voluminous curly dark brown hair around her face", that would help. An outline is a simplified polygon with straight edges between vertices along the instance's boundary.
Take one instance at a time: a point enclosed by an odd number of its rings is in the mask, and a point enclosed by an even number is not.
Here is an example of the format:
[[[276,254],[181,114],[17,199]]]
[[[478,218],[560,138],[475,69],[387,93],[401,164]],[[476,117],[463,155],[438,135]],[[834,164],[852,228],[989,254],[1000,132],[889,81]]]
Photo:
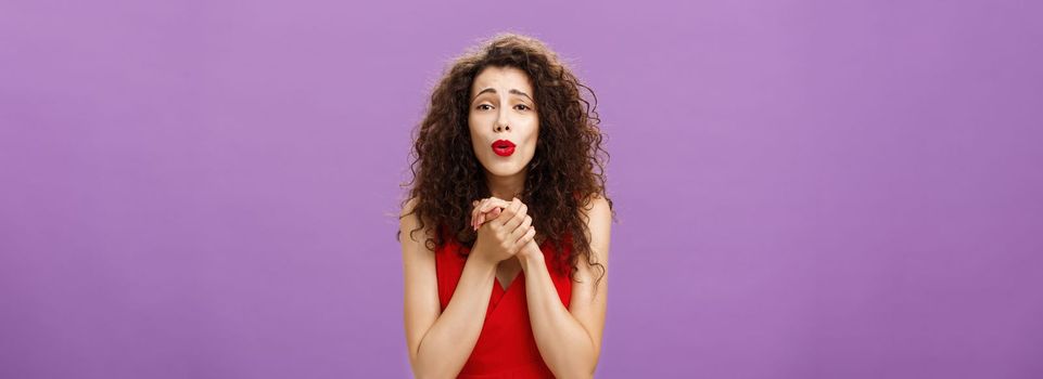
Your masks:
[[[423,121],[414,131],[414,184],[400,207],[416,198],[409,213],[416,213],[419,226],[437,226],[424,246],[435,250],[445,244],[444,236],[463,246],[473,246],[476,234],[470,227],[471,201],[492,196],[485,171],[471,145],[468,127],[468,103],[475,76],[485,67],[514,67],[529,75],[535,92],[539,129],[536,149],[529,164],[522,194],[518,196],[527,213],[542,226],[537,233],[554,245],[554,257],[571,265],[575,279],[577,259],[599,271],[589,246],[585,213],[595,197],[608,200],[613,219],[612,200],[605,191],[605,165],[608,152],[601,147],[598,128],[597,95],[580,82],[571,69],[543,42],[532,37],[505,32],[493,36],[453,61],[434,87]],[[594,106],[583,99],[580,89],[594,96]],[[402,231],[396,239],[400,240]],[[570,244],[568,256],[562,249]],[[556,265],[561,269],[561,265]],[[563,269],[561,269],[563,270]]]

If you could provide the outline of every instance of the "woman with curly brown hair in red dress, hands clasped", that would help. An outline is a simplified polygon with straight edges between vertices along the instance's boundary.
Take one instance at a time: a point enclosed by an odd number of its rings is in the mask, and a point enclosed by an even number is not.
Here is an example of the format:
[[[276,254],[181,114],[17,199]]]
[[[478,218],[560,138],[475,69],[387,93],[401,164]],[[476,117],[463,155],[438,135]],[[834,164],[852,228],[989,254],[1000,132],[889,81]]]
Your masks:
[[[580,88],[544,43],[514,34],[457,58],[435,87],[398,232],[417,377],[593,377],[613,210],[600,120]]]

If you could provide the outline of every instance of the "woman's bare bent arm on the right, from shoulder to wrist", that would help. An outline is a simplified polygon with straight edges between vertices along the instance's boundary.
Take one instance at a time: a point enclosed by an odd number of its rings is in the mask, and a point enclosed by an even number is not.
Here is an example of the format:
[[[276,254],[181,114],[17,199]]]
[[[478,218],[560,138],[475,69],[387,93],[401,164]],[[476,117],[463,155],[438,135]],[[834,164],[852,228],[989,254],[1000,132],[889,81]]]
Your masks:
[[[605,276],[595,289],[597,273],[585,259],[580,259],[573,283],[569,309],[550,280],[543,253],[535,243],[521,259],[525,271],[525,295],[529,317],[539,355],[558,378],[593,378],[601,353],[601,332],[605,329],[606,297],[608,296],[609,234],[611,209],[605,198],[596,198],[587,209],[590,249],[595,262],[605,266]],[[535,249],[535,250],[533,250]],[[597,290],[597,295],[595,295]]]

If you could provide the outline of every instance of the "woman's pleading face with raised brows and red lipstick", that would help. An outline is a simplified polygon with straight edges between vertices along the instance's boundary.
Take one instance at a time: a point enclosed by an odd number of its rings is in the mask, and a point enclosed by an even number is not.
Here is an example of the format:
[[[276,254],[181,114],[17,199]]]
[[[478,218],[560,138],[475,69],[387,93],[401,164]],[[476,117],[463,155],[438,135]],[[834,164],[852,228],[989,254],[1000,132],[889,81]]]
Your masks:
[[[471,86],[469,109],[471,144],[486,172],[524,174],[539,131],[529,76],[514,67],[486,67]]]

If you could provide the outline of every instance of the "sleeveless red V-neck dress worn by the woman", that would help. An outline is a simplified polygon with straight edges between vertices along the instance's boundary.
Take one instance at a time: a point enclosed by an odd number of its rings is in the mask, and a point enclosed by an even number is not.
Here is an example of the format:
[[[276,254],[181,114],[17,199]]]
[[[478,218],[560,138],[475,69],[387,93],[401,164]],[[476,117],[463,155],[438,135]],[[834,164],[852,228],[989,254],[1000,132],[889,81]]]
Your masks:
[[[443,240],[446,243],[435,250],[435,266],[438,276],[438,301],[442,311],[445,311],[467,262],[467,257],[461,257],[458,252],[469,253],[470,248],[460,245],[456,238],[444,232]],[[567,236],[562,244],[564,254],[561,257],[568,257],[570,246]],[[571,265],[555,258],[554,245],[549,239],[544,240],[539,249],[544,253],[544,261],[547,262],[558,297],[568,308],[572,298],[572,280],[569,278]],[[539,356],[529,321],[524,271],[518,272],[518,276],[506,290],[499,280],[493,280],[482,334],[479,335],[474,350],[463,364],[458,378],[554,378],[554,374]]]

